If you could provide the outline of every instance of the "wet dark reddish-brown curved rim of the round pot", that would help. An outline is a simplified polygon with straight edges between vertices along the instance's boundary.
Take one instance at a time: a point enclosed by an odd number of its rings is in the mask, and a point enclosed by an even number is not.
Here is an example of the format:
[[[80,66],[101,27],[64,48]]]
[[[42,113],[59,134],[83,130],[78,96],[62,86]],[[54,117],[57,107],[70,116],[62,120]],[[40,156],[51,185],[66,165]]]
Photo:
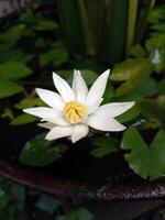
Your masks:
[[[18,165],[0,158],[0,175],[58,197],[66,202],[80,205],[84,202],[110,202],[123,200],[151,200],[165,198],[165,185],[155,182],[121,183],[117,185],[94,185],[68,178],[53,177],[42,174],[36,168]]]

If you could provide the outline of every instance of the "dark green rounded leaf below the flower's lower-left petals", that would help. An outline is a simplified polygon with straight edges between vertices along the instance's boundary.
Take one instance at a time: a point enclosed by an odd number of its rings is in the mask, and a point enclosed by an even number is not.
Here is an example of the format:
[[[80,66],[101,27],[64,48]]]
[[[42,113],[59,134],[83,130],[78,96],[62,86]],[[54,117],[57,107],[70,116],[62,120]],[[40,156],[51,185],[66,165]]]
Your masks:
[[[61,154],[58,148],[45,140],[45,134],[36,135],[26,142],[20,155],[20,162],[30,166],[45,166],[57,160]]]

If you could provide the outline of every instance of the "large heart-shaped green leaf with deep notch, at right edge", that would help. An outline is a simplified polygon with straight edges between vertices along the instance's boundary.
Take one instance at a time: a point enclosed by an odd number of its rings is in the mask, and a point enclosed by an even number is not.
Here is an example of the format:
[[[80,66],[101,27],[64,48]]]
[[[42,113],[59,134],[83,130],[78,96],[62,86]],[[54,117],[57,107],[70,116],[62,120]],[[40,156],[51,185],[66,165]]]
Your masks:
[[[150,146],[135,128],[124,132],[121,147],[129,151],[125,161],[142,178],[155,179],[165,173],[165,131],[155,135]]]

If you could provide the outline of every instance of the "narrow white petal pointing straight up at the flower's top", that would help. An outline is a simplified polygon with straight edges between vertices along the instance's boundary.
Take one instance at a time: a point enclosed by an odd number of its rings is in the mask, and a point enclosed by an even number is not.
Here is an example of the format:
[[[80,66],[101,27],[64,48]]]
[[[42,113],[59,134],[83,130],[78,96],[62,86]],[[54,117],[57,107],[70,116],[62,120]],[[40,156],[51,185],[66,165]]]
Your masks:
[[[84,103],[88,94],[88,87],[81,77],[80,72],[76,69],[74,70],[73,90],[75,92],[76,100]]]

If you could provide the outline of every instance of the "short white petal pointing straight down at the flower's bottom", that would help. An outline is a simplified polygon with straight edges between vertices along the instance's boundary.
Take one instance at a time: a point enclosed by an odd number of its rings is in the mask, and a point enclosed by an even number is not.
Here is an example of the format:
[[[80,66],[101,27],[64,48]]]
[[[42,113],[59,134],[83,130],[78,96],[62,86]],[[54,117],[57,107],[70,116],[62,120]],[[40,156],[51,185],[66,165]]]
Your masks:
[[[72,142],[75,143],[85,138],[89,132],[89,128],[86,124],[76,124],[73,128]]]

